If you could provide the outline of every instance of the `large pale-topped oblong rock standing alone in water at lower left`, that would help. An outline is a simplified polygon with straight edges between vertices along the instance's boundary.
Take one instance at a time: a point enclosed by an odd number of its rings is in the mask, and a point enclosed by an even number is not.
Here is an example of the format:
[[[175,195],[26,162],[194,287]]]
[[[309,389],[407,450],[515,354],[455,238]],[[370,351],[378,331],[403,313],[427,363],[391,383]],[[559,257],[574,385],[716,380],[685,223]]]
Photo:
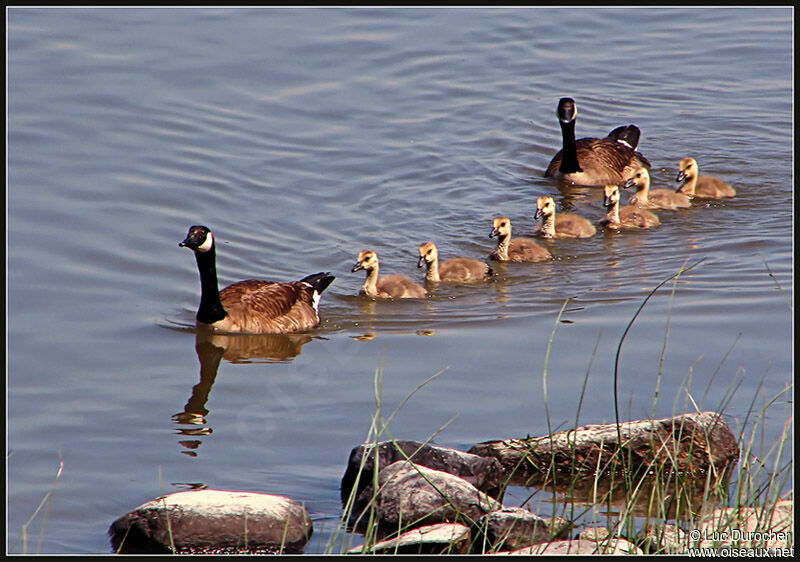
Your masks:
[[[294,500],[208,489],[151,500],[109,529],[114,550],[125,553],[300,552],[312,532]]]

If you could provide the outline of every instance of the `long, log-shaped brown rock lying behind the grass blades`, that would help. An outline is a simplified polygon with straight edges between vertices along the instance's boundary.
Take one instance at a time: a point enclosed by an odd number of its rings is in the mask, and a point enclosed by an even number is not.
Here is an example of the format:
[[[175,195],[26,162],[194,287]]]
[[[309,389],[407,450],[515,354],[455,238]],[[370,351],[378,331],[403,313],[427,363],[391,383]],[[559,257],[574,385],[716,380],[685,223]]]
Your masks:
[[[622,422],[620,451],[614,423],[585,425],[544,437],[487,441],[469,452],[497,458],[510,484],[536,484],[555,472],[596,478],[597,467],[614,458],[630,459],[640,469],[704,474],[713,465],[720,472],[738,460],[739,446],[728,424],[715,412],[681,414],[659,420]],[[623,467],[617,463],[615,467]]]

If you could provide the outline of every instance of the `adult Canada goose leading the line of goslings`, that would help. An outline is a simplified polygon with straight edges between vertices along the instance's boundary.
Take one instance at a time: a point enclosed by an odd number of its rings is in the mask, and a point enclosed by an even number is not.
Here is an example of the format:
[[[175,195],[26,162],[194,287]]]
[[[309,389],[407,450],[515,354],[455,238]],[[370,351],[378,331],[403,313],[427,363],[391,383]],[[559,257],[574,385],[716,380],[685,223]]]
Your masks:
[[[251,334],[284,334],[319,324],[319,298],[333,275],[320,272],[290,283],[248,279],[220,291],[211,230],[193,226],[178,246],[192,250],[197,260],[201,289],[198,323],[222,332]]]

